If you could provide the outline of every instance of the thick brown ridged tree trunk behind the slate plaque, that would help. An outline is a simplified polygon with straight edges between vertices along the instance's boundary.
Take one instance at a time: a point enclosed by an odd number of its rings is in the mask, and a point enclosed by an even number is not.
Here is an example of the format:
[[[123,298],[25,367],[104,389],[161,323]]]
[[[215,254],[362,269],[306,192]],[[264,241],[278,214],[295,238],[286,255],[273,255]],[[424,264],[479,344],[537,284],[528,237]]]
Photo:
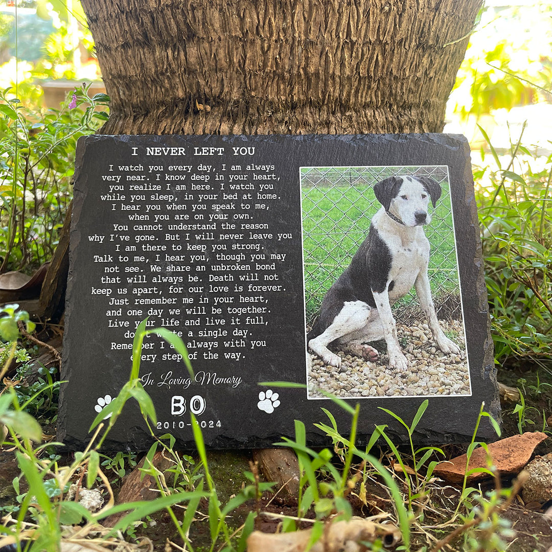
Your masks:
[[[83,0],[105,134],[440,132],[481,0]]]

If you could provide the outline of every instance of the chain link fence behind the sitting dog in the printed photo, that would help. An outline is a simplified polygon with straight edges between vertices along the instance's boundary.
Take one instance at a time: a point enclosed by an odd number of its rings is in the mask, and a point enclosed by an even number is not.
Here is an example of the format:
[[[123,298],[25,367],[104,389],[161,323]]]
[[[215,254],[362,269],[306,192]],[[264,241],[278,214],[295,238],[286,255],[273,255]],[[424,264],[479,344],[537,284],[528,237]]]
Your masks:
[[[429,280],[437,316],[461,319],[448,167],[301,167],[300,175],[309,327],[326,291],[351,262],[368,235],[371,217],[381,208],[374,184],[391,176],[427,176],[441,185],[431,224],[424,227],[431,243]],[[397,302],[394,310],[397,322],[410,323],[419,317],[415,291]]]

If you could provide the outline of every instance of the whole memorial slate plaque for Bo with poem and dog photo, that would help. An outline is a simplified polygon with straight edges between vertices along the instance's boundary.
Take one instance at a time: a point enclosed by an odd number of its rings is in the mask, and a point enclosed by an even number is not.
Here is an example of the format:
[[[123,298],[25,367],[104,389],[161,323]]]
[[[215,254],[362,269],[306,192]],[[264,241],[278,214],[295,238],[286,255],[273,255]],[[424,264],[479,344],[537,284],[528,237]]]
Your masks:
[[[418,203],[408,203],[411,192]],[[427,285],[416,276],[424,262]],[[182,337],[194,369],[163,339],[145,338],[140,378],[157,412],[153,431],[183,448],[193,446],[190,412],[211,448],[269,446],[293,437],[295,419],[310,444],[326,443],[313,425],[327,421],[321,407],[343,434],[350,423],[326,392],[360,402],[361,441],[381,423],[402,435],[380,406],[410,421],[428,398],[418,441],[469,440],[482,401],[498,414],[461,136],[84,137],[70,263],[58,437],[73,447],[128,380],[146,318]],[[363,312],[369,322],[380,316],[379,333],[388,332],[367,335],[384,341],[341,337]],[[306,387],[259,385],[267,381]],[[489,423],[480,437],[493,437]],[[129,401],[107,446],[151,440]]]

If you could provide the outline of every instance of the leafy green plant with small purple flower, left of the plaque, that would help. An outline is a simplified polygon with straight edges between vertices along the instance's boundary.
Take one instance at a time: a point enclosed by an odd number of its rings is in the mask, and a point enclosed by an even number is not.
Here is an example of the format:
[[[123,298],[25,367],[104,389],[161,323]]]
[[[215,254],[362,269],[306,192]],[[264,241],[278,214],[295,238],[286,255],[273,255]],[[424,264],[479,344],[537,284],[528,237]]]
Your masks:
[[[24,107],[0,92],[0,273],[49,260],[71,200],[75,145],[107,119],[105,94],[75,89],[60,110]],[[103,110],[102,110],[103,109]]]

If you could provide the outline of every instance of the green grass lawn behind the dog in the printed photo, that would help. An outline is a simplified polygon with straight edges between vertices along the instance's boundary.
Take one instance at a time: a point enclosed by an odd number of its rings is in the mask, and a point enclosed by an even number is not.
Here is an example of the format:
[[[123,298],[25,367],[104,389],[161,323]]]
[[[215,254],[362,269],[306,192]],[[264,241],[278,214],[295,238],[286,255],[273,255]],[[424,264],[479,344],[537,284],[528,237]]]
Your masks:
[[[360,179],[355,179],[352,185],[350,182],[331,185],[327,180],[302,187],[305,299],[309,322],[316,315],[323,295],[348,266],[368,235],[370,219],[381,207],[374,197],[371,183],[365,182],[366,178],[360,183]],[[433,211],[433,220],[425,228],[432,251],[429,279],[434,296],[458,295],[448,182],[441,182],[441,187],[443,192]],[[408,303],[412,299],[413,296],[407,296],[402,301]]]

